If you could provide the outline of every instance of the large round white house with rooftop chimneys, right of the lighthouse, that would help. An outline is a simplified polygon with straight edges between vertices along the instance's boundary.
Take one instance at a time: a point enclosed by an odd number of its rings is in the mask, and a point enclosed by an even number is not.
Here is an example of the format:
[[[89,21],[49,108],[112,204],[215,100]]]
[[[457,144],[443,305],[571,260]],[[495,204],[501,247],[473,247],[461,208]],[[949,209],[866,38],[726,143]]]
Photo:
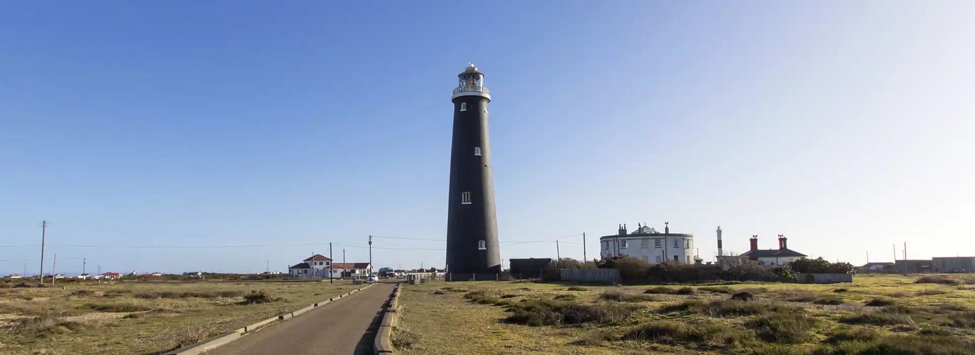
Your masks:
[[[659,232],[648,226],[640,226],[637,231],[627,233],[626,225],[623,225],[619,226],[615,235],[600,237],[600,256],[627,255],[649,264],[665,261],[694,264],[693,250],[694,235],[672,233],[670,227]]]

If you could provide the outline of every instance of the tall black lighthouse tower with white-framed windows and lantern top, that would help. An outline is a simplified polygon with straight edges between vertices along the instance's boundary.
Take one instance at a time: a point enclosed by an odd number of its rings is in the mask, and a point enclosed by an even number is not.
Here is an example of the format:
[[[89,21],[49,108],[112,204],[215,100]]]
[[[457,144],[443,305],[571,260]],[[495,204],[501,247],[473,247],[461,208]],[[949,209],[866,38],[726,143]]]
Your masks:
[[[501,272],[494,180],[487,138],[485,75],[471,64],[453,89],[453,140],[447,212],[447,271],[451,274]]]

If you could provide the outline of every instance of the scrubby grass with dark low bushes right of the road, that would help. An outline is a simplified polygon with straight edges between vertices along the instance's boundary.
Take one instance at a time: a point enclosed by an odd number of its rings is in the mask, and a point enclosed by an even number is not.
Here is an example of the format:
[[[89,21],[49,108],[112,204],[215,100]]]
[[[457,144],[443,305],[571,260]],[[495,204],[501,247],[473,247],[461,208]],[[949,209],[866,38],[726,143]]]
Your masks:
[[[919,276],[841,285],[610,287],[435,282],[405,286],[406,355],[975,353],[975,292]],[[432,291],[463,288],[473,295]],[[568,297],[565,291],[571,289]],[[653,295],[643,295],[653,294]],[[751,294],[752,301],[732,301]],[[499,302],[480,297],[502,295]],[[626,302],[650,297],[654,302]],[[742,298],[739,296],[739,298]],[[882,301],[875,302],[874,299]],[[896,300],[896,302],[886,302]],[[866,305],[878,304],[878,305]],[[632,307],[631,307],[632,306]],[[463,338],[464,341],[456,339]],[[931,338],[943,343],[928,343]]]

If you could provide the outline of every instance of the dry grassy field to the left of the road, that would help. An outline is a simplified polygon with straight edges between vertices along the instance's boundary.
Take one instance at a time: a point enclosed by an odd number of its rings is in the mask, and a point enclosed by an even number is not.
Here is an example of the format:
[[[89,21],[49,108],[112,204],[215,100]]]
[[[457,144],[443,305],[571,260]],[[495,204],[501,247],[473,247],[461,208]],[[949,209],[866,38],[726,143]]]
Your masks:
[[[259,281],[4,289],[0,353],[151,354],[320,302],[342,293],[343,286],[352,289],[351,282]],[[252,291],[276,301],[240,304]]]

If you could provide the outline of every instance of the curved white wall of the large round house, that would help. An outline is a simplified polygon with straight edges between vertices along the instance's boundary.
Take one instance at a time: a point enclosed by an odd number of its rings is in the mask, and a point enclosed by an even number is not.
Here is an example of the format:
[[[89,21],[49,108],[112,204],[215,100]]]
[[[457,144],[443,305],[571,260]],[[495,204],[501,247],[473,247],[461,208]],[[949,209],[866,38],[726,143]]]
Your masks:
[[[656,240],[660,240],[657,246]],[[677,242],[677,248],[674,243]],[[618,249],[617,244],[618,243]],[[625,244],[625,247],[624,247]],[[694,238],[683,236],[620,236],[600,240],[600,256],[612,257],[619,254],[643,259],[650,264],[658,264],[665,260],[678,263],[694,264]]]

